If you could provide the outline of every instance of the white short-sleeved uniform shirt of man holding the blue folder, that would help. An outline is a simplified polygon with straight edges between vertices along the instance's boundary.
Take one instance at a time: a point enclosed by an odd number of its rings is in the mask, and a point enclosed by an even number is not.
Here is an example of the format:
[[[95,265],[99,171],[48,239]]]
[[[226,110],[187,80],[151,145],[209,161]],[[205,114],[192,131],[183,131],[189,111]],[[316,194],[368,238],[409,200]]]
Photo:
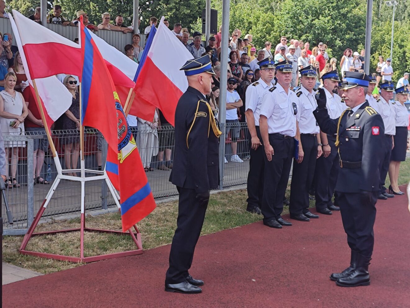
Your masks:
[[[287,136],[296,136],[296,115],[298,108],[296,93],[286,91],[277,83],[262,97],[260,115],[268,119],[268,133],[281,133]],[[313,110],[312,110],[313,111]]]

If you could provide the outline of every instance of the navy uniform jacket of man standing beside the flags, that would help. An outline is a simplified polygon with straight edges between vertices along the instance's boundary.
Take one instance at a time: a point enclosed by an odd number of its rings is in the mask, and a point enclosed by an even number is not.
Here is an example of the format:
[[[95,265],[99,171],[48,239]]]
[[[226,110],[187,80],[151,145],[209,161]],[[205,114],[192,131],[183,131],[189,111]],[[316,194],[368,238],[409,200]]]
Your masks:
[[[196,193],[219,185],[219,138],[212,131],[213,115],[206,103],[201,92],[188,87],[175,110],[175,151],[169,180]]]

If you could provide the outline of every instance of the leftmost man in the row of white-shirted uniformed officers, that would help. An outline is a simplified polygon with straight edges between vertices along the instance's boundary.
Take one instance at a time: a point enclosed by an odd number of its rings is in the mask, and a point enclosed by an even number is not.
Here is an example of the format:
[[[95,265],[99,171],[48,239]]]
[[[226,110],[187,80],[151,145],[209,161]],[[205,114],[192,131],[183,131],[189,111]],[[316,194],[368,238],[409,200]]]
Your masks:
[[[273,87],[272,80],[275,76],[275,62],[271,57],[267,57],[258,62],[258,65],[261,78],[246,88],[245,95],[245,116],[248,124],[249,152],[251,154],[247,182],[248,199],[246,202],[248,206],[246,210],[262,214],[260,208],[262,207],[265,151],[259,129],[259,114],[263,94]]]

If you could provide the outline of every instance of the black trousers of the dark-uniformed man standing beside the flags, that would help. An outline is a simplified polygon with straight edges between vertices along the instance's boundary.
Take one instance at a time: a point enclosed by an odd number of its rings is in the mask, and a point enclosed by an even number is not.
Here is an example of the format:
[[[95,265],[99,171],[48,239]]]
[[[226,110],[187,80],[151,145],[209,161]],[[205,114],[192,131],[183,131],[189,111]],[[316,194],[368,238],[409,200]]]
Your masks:
[[[194,251],[202,225],[208,200],[199,202],[194,189],[177,187],[179,192],[177,229],[169,253],[169,269],[165,283],[181,283],[189,275]]]

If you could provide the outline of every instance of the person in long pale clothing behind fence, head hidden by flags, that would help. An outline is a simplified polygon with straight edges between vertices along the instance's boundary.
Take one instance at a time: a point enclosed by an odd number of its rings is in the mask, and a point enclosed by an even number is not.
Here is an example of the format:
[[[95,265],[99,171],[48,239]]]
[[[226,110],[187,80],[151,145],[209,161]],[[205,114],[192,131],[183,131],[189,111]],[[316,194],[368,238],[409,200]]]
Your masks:
[[[159,140],[158,140],[158,115],[155,111],[154,119],[152,122],[138,119],[138,145],[139,155],[141,156],[142,165],[145,172],[154,171],[154,168],[150,167],[151,159],[158,154]]]

